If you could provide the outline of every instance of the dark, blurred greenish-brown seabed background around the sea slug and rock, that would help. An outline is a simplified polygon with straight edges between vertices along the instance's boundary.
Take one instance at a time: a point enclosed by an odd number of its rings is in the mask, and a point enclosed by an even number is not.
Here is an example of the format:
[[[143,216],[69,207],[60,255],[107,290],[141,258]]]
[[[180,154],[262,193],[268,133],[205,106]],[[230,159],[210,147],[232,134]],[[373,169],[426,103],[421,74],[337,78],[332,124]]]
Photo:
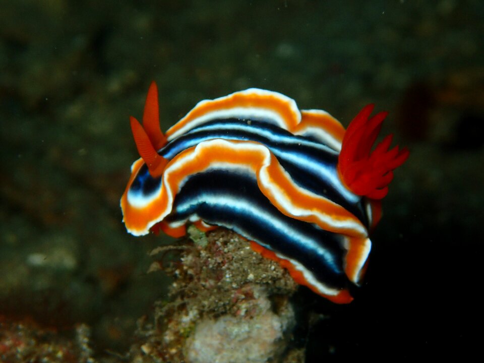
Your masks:
[[[61,336],[89,341],[83,361],[132,361],[137,322],[167,298],[148,253],[171,240],[130,235],[119,208],[138,157],[128,117],[152,80],[163,131],[249,87],[344,126],[388,110],[383,132],[410,157],[354,301],[300,288],[324,316],[300,338],[306,361],[480,351],[483,24],[478,0],[0,0],[0,355]]]

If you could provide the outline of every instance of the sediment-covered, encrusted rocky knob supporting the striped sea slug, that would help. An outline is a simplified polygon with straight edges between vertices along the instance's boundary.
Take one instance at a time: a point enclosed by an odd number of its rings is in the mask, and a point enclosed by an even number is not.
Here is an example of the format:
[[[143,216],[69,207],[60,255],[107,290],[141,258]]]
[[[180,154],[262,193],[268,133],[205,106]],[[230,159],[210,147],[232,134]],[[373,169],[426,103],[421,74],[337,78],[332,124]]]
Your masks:
[[[290,344],[297,284],[289,273],[229,230],[190,235],[194,243],[172,247],[181,259],[163,268],[175,278],[170,301],[157,304],[154,324],[140,322],[133,361],[304,361]]]

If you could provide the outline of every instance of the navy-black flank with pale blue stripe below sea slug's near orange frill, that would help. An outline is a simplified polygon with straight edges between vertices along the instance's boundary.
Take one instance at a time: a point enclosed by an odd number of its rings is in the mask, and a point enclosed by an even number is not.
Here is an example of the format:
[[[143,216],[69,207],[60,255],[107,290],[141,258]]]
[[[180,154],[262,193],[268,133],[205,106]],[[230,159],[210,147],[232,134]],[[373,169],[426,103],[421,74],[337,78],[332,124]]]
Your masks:
[[[208,203],[210,198],[215,198],[217,202]],[[250,209],[238,210],[233,201],[243,201]],[[189,207],[182,211],[183,206]],[[329,287],[345,288],[351,284],[344,274],[346,250],[343,237],[280,213],[261,193],[254,177],[226,170],[211,170],[190,176],[176,195],[173,212],[165,221],[186,220],[194,214],[209,224],[232,229],[299,262],[318,281]],[[303,234],[305,239],[292,239],[286,230],[278,229],[274,221]],[[313,248],[304,245],[308,241],[314,243]],[[315,253],[315,246],[327,256]]]

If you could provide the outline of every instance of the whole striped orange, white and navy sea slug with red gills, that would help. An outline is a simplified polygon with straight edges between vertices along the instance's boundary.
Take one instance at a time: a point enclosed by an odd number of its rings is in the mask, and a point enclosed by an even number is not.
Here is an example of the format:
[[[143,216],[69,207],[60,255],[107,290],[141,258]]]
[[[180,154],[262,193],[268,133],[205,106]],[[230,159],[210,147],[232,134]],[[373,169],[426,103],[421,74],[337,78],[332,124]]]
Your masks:
[[[199,102],[165,134],[153,82],[143,125],[131,117],[140,159],[121,199],[134,235],[179,237],[187,223],[218,226],[328,299],[352,300],[371,250],[393,170],[408,157],[373,150],[387,113],[364,107],[347,130],[322,110],[257,88]]]

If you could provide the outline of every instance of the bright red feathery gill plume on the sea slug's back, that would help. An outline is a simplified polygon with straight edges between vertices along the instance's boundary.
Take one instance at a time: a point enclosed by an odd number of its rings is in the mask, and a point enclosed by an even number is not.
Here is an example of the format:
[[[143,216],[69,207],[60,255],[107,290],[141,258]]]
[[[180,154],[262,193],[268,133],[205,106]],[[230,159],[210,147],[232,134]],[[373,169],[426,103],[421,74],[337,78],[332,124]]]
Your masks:
[[[354,194],[382,199],[393,179],[392,170],[402,165],[409,155],[398,145],[388,150],[393,135],[387,135],[372,151],[388,112],[372,118],[374,104],[365,106],[348,126],[338,158],[338,172],[346,187]]]

